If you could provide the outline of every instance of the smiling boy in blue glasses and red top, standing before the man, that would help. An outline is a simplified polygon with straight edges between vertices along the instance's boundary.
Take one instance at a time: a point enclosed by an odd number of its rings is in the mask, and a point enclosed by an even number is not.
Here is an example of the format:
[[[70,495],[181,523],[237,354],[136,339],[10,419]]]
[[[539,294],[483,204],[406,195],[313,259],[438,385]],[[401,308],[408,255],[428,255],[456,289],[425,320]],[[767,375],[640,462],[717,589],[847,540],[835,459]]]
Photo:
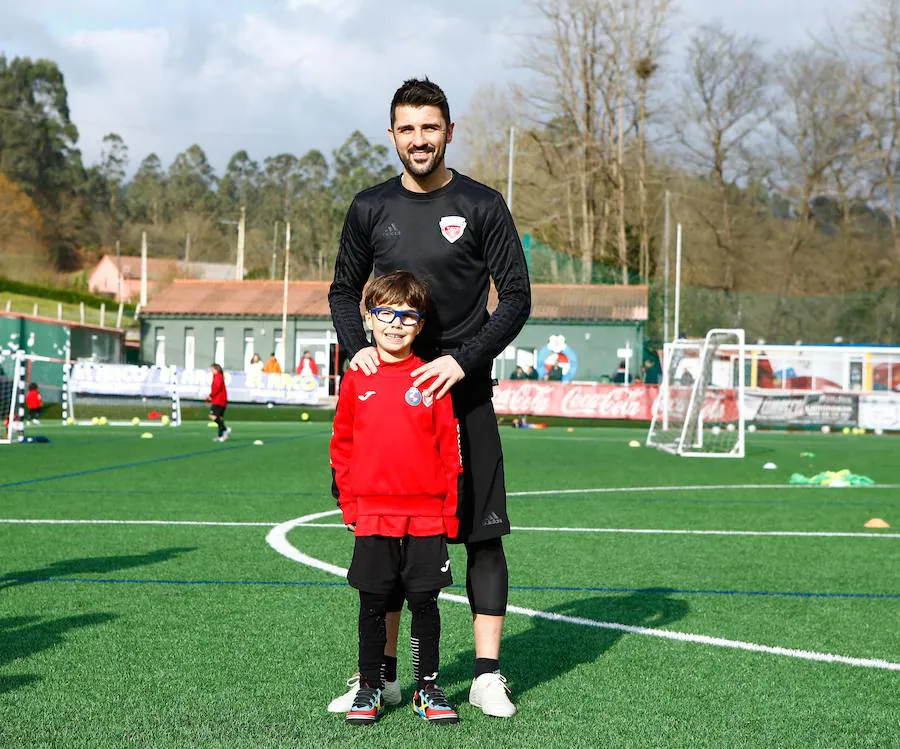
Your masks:
[[[382,363],[369,377],[344,376],[331,439],[333,491],[356,535],[347,579],[359,591],[359,689],[346,720],[371,724],[384,709],[385,614],[402,591],[412,613],[413,709],[429,723],[457,723],[437,685],[437,597],[453,582],[447,538],[459,530],[459,426],[449,398],[411,386],[422,365],[411,347],[428,307],[425,286],[395,271],[370,281],[363,301]]]

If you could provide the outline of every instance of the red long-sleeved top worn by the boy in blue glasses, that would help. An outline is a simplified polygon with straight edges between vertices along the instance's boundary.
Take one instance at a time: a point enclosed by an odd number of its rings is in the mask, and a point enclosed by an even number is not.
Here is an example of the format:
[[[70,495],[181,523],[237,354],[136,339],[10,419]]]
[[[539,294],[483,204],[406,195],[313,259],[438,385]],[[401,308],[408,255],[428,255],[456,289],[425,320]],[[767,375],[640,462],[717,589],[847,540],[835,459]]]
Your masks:
[[[423,363],[382,362],[373,375],[348,370],[341,381],[331,467],[357,536],[459,532],[459,423],[449,396],[426,399],[413,387],[410,372]]]

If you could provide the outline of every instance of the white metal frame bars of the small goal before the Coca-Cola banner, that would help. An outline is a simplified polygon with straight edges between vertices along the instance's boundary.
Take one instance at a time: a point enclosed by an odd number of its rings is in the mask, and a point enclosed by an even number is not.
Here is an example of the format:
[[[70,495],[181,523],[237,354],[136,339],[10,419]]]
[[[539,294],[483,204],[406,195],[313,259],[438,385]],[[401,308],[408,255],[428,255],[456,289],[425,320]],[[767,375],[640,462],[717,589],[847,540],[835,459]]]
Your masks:
[[[733,343],[721,344],[717,341],[732,337]],[[682,410],[679,403],[674,402],[673,375],[684,358],[685,351],[699,351],[698,372],[691,384],[687,406]],[[712,382],[713,367],[716,357],[727,354],[730,362],[730,382],[725,388]],[[679,455],[682,457],[702,458],[743,458],[745,455],[744,423],[744,391],[746,378],[746,346],[744,330],[741,328],[713,328],[704,338],[702,344],[697,341],[678,340],[664,346],[663,381],[659,394],[653,404],[653,417],[647,432],[647,446]],[[729,423],[728,433],[734,432],[733,442],[723,449],[713,449],[716,440],[713,436],[720,434],[720,427],[707,429],[704,425],[704,408],[707,405],[707,393],[713,388],[733,390],[737,407],[737,423]],[[682,400],[684,395],[681,395]],[[670,423],[673,415],[683,416],[681,424]],[[723,440],[729,442],[728,440]]]

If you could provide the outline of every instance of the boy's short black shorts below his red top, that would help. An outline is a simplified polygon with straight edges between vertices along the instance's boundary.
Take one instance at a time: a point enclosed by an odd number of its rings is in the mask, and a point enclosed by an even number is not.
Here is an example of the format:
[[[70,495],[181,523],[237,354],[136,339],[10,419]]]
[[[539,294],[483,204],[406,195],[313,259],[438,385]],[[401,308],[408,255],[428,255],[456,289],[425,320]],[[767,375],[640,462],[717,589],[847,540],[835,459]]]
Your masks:
[[[357,536],[347,573],[351,587],[387,595],[398,587],[426,593],[453,584],[445,536]]]

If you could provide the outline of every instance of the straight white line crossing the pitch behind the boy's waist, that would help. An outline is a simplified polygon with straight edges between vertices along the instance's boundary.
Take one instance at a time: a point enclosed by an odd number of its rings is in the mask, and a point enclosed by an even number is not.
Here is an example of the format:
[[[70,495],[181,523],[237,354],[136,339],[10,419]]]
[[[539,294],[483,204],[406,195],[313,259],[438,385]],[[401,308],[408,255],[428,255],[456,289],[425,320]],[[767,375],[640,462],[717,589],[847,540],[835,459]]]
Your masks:
[[[334,510],[329,510],[334,513]],[[0,525],[173,525],[225,528],[273,528],[278,523],[214,520],[68,520],[54,518],[0,518]],[[304,528],[345,530],[341,523],[303,523]],[[900,533],[852,533],[840,531],[729,531],[689,530],[679,528],[555,528],[550,526],[514,525],[514,531],[542,533],[623,533],[649,536],[769,536],[776,538],[889,538],[900,539]]]

